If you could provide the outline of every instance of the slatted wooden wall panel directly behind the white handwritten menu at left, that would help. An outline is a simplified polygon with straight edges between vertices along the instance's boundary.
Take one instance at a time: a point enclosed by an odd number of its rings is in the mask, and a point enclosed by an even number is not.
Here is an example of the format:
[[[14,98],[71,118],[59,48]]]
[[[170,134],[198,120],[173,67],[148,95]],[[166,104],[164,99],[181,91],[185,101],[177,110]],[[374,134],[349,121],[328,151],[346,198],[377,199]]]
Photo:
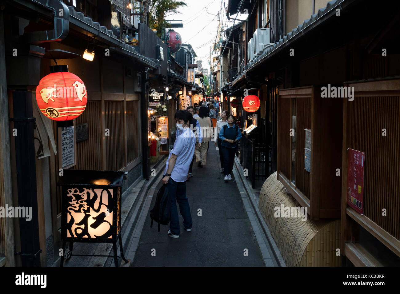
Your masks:
[[[76,143],[76,170],[102,170],[101,102],[89,101],[76,124],[88,123],[88,140]]]

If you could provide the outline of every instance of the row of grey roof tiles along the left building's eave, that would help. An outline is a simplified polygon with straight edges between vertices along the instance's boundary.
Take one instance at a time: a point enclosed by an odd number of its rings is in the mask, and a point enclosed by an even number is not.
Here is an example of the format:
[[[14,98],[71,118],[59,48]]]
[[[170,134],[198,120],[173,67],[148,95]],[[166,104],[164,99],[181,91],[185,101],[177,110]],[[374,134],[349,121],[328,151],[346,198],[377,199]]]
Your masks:
[[[141,54],[139,54],[136,49],[134,48],[134,46],[131,46],[129,44],[126,44],[124,42],[122,42],[121,40],[118,40],[116,38],[116,36],[114,35],[114,33],[112,32],[112,30],[107,30],[107,28],[105,26],[101,26],[100,23],[98,22],[94,22],[92,20],[92,18],[90,17],[86,17],[84,16],[84,14],[82,12],[76,12],[73,6],[67,6],[69,11],[70,11],[70,17],[74,17],[78,20],[81,20],[82,22],[88,24],[89,26],[92,26],[93,28],[95,28],[96,30],[98,30],[98,32],[102,32],[104,34],[106,34],[108,37],[112,38],[111,41],[116,44],[117,46],[119,46],[120,48],[131,52],[135,55],[137,55],[137,58],[142,59],[143,61],[152,64],[153,66],[156,66],[156,63],[152,60],[150,60],[149,58],[146,58],[146,56],[143,56]],[[71,21],[71,18],[70,18]]]

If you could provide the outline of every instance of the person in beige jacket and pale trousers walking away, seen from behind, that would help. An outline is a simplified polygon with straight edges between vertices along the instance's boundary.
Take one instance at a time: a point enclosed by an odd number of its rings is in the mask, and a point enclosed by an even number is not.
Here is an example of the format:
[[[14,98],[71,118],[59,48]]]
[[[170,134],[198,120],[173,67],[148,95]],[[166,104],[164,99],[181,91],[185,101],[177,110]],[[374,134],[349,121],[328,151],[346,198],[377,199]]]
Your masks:
[[[201,168],[206,164],[208,143],[212,132],[211,119],[207,116],[207,107],[200,107],[199,116],[196,117],[196,120],[199,121],[202,130],[202,143],[200,147],[199,145],[196,146],[194,154],[196,155],[198,167]],[[199,138],[197,138],[197,142],[200,142]]]

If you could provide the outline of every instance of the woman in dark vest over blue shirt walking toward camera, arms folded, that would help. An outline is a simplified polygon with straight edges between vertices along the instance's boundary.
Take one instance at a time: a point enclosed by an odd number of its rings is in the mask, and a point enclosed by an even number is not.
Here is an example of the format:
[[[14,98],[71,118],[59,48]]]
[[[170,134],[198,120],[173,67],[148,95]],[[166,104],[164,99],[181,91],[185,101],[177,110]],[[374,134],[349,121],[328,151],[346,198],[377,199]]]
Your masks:
[[[222,126],[219,138],[222,140],[222,154],[224,156],[224,181],[232,180],[233,162],[235,159],[237,142],[242,138],[240,128],[234,124],[234,116],[229,114],[227,117],[228,124]]]

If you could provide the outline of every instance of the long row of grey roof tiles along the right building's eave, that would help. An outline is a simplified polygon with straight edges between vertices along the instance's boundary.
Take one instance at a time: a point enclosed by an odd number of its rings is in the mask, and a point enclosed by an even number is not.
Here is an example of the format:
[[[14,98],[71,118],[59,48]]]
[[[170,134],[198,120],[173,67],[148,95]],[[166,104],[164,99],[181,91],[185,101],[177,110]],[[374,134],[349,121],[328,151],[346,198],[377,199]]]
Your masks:
[[[326,4],[326,7],[324,8],[320,8],[318,10],[318,12],[316,14],[312,14],[310,18],[304,20],[303,24],[299,24],[296,28],[294,28],[292,30],[292,32],[288,33],[286,36],[284,36],[282,39],[280,39],[278,42],[276,42],[274,45],[269,46],[268,48],[266,48],[263,52],[262,55],[258,55],[256,57],[254,57],[254,59],[252,60],[252,62],[250,62],[249,64],[246,65],[246,70],[245,72],[249,69],[254,67],[255,65],[260,64],[262,61],[266,60],[269,55],[274,51],[274,50],[280,50],[282,48],[282,45],[285,44],[286,42],[288,42],[291,38],[293,38],[294,36],[298,35],[300,32],[303,32],[303,30],[305,28],[307,28],[308,26],[310,26],[310,24],[313,24],[314,22],[316,22],[318,19],[321,19],[322,16],[324,16],[327,12],[329,12],[330,10],[332,10],[334,7],[336,7],[338,4],[341,4],[342,2],[344,2],[346,0],[332,0],[329,1]],[[316,24],[318,24],[319,22],[317,22]],[[237,82],[239,82],[244,74],[241,74],[240,76],[238,76],[232,83],[231,85],[236,84]]]

